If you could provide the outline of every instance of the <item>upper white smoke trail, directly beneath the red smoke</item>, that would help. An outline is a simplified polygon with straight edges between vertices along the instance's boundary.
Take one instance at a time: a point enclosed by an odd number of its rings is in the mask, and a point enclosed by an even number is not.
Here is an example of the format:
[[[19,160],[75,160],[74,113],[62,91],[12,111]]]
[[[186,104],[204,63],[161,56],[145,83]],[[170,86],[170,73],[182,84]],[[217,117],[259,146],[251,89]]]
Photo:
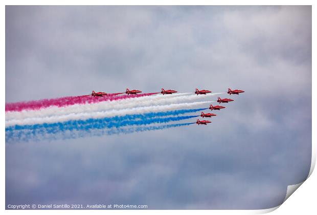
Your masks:
[[[140,106],[152,106],[152,105],[164,105],[170,103],[177,103],[183,101],[192,101],[196,99],[203,99],[210,96],[218,95],[222,93],[211,93],[207,95],[195,95],[193,93],[178,93],[172,95],[153,95],[137,98],[128,98],[116,101],[104,101],[92,104],[74,104],[65,107],[51,106],[46,109],[40,110],[26,110],[20,112],[7,112],[6,123],[10,120],[22,120],[27,118],[38,118],[38,117],[51,117],[51,116],[62,116],[69,114],[79,113],[93,113],[107,110],[121,110],[130,109],[133,107]]]

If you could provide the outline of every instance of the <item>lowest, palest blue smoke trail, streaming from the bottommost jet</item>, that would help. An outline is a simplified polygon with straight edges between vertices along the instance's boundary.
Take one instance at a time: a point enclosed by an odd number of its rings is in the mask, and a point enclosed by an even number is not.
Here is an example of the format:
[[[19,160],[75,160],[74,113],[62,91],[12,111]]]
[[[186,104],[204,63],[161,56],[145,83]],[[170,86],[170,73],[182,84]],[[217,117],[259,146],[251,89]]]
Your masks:
[[[14,142],[14,141],[40,141],[42,139],[48,140],[57,140],[57,139],[75,139],[80,137],[91,137],[91,136],[103,136],[103,135],[114,135],[114,134],[131,134],[134,132],[145,132],[145,131],[155,131],[155,130],[163,130],[171,127],[179,127],[186,126],[192,123],[179,123],[179,124],[166,124],[166,125],[158,125],[158,126],[136,126],[136,127],[127,127],[127,128],[111,128],[110,130],[87,130],[87,131],[64,131],[58,134],[36,134],[34,131],[25,131],[25,133],[18,134],[7,134],[6,133],[6,142]]]

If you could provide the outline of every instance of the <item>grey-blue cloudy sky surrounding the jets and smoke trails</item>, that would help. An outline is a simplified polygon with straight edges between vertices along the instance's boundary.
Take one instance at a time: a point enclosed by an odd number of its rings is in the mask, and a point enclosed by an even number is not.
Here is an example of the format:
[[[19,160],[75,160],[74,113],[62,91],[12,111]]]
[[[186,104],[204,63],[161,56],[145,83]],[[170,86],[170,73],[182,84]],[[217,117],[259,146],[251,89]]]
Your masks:
[[[7,6],[6,102],[243,89],[209,126],[6,144],[6,204],[264,209],[311,162],[311,7]]]

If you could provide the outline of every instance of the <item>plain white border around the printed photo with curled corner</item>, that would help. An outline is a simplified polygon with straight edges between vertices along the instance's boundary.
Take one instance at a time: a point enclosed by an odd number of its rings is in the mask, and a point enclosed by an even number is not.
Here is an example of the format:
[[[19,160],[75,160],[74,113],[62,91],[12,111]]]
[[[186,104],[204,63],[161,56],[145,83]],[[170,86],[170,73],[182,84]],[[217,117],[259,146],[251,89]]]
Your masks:
[[[1,22],[1,28],[3,29],[2,34],[1,34],[1,40],[2,40],[2,68],[3,68],[3,73],[1,74],[2,78],[0,79],[1,81],[1,87],[2,87],[2,106],[1,106],[1,111],[2,113],[5,113],[5,5],[312,5],[312,24],[314,24],[315,20],[315,15],[314,13],[316,12],[314,1],[309,1],[309,0],[303,0],[303,1],[272,1],[272,0],[267,0],[267,1],[233,1],[233,0],[227,0],[227,1],[215,1],[215,0],[197,0],[197,1],[189,1],[189,0],[173,0],[173,1],[167,1],[167,0],[162,0],[162,1],[144,1],[144,0],[135,0],[135,1],[128,1],[128,0],[118,0],[118,1],[100,1],[100,0],[90,0],[90,1],[52,1],[48,0],[44,2],[39,1],[39,0],[33,0],[33,1],[2,1],[3,2],[3,7],[2,7],[2,22]],[[315,36],[315,27],[312,25],[312,38]],[[315,50],[315,44],[312,41],[312,71],[314,71],[315,65],[314,65],[314,50]],[[315,103],[315,78],[316,75],[312,73],[312,110],[316,110],[316,103]],[[315,114],[312,112],[312,131],[316,131],[316,126],[315,126]],[[5,115],[2,115],[2,132],[1,132],[1,138],[3,140],[3,150],[2,150],[2,173],[5,173]],[[309,172],[309,176],[311,176],[312,171],[315,166],[315,161],[316,161],[316,153],[315,153],[316,147],[315,147],[315,135],[312,133],[312,163],[311,163],[311,168]],[[309,177],[308,176],[308,177]],[[316,190],[316,177],[310,177],[313,178],[312,180],[309,181],[309,187],[304,185],[304,188],[297,194],[297,196],[301,195],[301,198],[290,198],[286,203],[282,204],[285,205],[285,207],[282,206],[281,209],[276,210],[274,213],[280,214],[280,213],[287,213],[287,214],[297,214],[299,212],[298,209],[302,209],[305,211],[315,211],[315,206],[314,206],[314,198],[313,194],[311,194],[311,187],[313,187],[313,190]],[[2,208],[5,210],[5,175],[3,174],[3,177],[1,178],[2,182],[2,196],[1,200],[3,202]],[[306,182],[308,183],[308,182]],[[305,183],[305,184],[306,184]],[[285,200],[289,197],[289,194],[291,194],[293,191],[295,191],[302,183],[298,185],[290,185],[288,186],[287,189],[287,195],[285,197]],[[310,196],[310,197],[309,197]],[[309,197],[309,198],[308,198]],[[292,202],[292,204],[288,204],[288,202],[291,202],[291,200],[297,199],[296,202]],[[285,201],[284,200],[284,201]],[[305,203],[310,204],[305,204]],[[286,208],[286,205],[288,205],[288,208]],[[305,208],[301,208],[301,206],[304,206]],[[278,206],[279,207],[279,206]],[[275,208],[269,208],[269,209],[264,209],[264,210],[179,210],[177,212],[182,212],[185,214],[189,213],[199,213],[199,214],[210,214],[210,213],[216,213],[216,214],[232,214],[232,213],[238,213],[238,214],[259,214],[259,213],[266,213],[273,211],[277,209],[278,207]],[[295,210],[294,210],[295,209]],[[69,214],[69,213],[81,213],[81,214],[86,214],[88,211],[86,210],[5,210],[5,213],[10,213],[10,214],[16,214],[16,213],[29,213],[29,214],[43,214],[43,213],[64,213],[64,214]],[[111,210],[111,211],[104,211],[104,210],[89,210],[89,213],[116,213],[116,214],[122,214],[122,213],[134,213],[134,214],[161,214],[162,212],[164,213],[175,213],[175,210]]]

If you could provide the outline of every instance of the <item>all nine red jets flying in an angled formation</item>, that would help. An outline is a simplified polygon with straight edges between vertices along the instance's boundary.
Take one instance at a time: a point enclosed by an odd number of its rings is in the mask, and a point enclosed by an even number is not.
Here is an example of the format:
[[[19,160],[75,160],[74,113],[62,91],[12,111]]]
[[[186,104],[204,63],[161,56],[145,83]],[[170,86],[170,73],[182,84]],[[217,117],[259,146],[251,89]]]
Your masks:
[[[128,88],[126,89],[125,91],[126,94],[128,95],[137,95],[138,93],[142,93],[142,91],[140,90],[129,90]],[[164,88],[161,89],[161,94],[165,95],[165,94],[173,94],[173,93],[177,93],[177,91],[175,90],[164,90]],[[196,91],[194,92],[197,96],[198,95],[206,95],[207,93],[211,93],[211,91],[209,90],[198,90],[198,88],[196,88]],[[244,93],[243,90],[231,90],[230,88],[228,88],[228,92],[227,92],[229,95],[231,94],[236,94],[236,95],[239,95],[240,93]],[[105,92],[98,92],[96,93],[95,91],[92,92],[92,96],[99,96],[99,97],[102,97],[102,96],[105,96],[107,95],[107,93]],[[217,102],[219,102],[219,104],[222,102],[222,103],[228,103],[230,101],[234,101],[233,99],[230,99],[230,98],[220,98],[218,97],[217,99]],[[218,110],[220,111],[221,109],[224,109],[225,107],[224,106],[220,106],[220,105],[215,105],[213,106],[212,104],[210,104],[209,106],[209,109],[212,111],[212,110]],[[217,116],[216,114],[212,114],[212,113],[203,113],[201,112],[200,114],[200,117],[204,118],[204,117],[212,117],[212,116]],[[208,121],[208,120],[199,120],[197,119],[196,121],[196,124],[200,125],[207,125],[207,123],[211,123],[211,121]]]

